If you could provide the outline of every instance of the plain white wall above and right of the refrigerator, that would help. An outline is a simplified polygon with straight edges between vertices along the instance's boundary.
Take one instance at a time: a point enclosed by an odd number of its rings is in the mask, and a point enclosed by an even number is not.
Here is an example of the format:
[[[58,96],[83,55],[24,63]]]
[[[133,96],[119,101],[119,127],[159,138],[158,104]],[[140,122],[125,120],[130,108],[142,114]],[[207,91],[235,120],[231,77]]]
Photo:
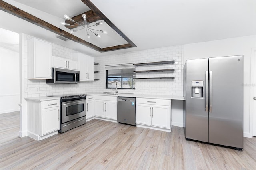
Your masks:
[[[244,36],[184,45],[184,63],[188,59],[244,55],[244,136],[252,137],[250,129],[250,59],[256,36]]]

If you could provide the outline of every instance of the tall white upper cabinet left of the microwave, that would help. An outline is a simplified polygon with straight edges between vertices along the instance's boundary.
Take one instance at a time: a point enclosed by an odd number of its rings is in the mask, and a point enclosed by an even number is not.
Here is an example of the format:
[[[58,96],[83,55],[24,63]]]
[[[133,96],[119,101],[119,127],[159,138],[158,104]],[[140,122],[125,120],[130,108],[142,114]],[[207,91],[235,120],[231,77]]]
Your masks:
[[[52,44],[28,40],[28,79],[52,79]]]

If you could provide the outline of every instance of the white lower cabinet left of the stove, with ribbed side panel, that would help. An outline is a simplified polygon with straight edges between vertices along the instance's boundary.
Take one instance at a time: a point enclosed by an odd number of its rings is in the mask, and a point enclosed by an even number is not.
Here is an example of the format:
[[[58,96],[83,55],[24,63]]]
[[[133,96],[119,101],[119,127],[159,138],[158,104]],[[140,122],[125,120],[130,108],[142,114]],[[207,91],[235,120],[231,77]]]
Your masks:
[[[28,100],[28,136],[42,140],[60,129],[60,99]]]

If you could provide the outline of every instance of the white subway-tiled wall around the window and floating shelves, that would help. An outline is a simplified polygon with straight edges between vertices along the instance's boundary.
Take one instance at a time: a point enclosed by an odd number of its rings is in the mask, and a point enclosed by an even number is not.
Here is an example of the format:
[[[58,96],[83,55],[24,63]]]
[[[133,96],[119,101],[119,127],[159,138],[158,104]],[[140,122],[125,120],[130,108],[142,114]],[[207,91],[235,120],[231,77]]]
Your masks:
[[[172,79],[136,79],[135,90],[118,89],[120,93],[134,93],[134,94],[148,94],[148,95],[183,95],[182,91],[182,45],[173,47],[163,47],[157,49],[149,49],[144,51],[136,51],[131,53],[123,53],[117,55],[108,55],[103,57],[96,57],[94,61],[99,63],[95,65],[95,70],[100,71],[96,73],[95,78],[100,79],[94,83],[94,91],[103,92],[106,89],[105,66],[124,64],[124,63],[146,63],[154,61],[169,61],[175,60],[175,64],[143,66],[136,67],[138,70],[151,69],[175,69],[173,73],[136,73],[136,77],[175,77]]]

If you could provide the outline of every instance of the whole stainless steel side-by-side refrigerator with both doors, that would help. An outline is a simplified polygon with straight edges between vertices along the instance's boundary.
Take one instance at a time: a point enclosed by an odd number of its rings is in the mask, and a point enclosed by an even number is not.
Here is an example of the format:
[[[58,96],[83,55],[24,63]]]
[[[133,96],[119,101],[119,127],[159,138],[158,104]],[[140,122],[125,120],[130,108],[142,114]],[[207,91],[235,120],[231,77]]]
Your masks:
[[[187,60],[186,140],[243,148],[243,56]]]

